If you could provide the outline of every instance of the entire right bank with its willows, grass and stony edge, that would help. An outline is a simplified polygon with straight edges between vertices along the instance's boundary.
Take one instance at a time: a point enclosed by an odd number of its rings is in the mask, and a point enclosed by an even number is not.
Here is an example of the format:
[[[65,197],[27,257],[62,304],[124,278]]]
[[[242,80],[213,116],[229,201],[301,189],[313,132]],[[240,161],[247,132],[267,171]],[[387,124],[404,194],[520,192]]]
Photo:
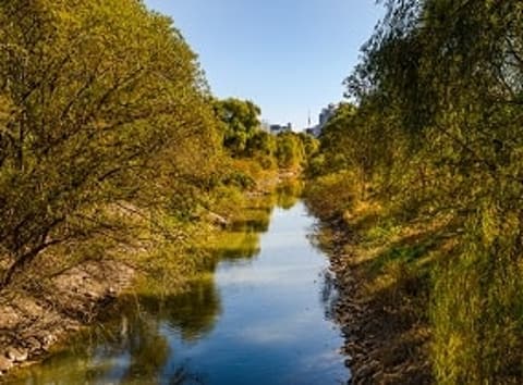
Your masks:
[[[307,197],[355,383],[522,382],[522,27],[521,1],[388,1],[345,79]]]

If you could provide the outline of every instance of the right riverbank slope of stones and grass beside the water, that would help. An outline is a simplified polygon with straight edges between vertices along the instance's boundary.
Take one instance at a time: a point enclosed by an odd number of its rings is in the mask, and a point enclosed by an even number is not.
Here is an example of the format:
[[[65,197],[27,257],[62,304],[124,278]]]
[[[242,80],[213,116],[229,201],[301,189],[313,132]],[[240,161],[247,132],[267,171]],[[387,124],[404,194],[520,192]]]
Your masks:
[[[404,266],[385,268],[380,259],[387,245],[373,244],[369,232],[330,218],[318,234],[336,275],[335,314],[344,334],[352,383],[431,384],[427,283],[402,271]],[[415,241],[415,234],[410,235]]]

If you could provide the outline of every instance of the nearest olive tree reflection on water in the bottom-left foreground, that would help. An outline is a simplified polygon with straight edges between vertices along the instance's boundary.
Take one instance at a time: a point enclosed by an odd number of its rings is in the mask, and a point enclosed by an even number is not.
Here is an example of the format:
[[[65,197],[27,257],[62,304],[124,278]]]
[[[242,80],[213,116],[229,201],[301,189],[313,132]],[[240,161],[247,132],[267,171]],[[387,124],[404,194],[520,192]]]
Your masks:
[[[104,326],[71,340],[69,350],[41,367],[31,368],[25,380],[34,385],[65,384],[204,384],[185,363],[163,369],[172,357],[159,320],[144,312],[130,320],[122,314]]]

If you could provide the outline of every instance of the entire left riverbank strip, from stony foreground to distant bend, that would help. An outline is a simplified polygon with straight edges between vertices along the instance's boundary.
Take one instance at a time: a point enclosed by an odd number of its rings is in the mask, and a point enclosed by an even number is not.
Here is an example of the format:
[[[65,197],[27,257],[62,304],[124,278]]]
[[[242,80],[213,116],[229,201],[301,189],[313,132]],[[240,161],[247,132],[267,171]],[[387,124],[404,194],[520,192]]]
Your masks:
[[[187,265],[179,266],[180,257],[173,259],[169,253],[154,253],[144,259],[135,256],[87,260],[51,278],[40,280],[37,273],[31,274],[32,278],[3,290],[0,297],[0,378],[13,369],[38,363],[59,350],[72,334],[97,322],[122,295],[136,290],[151,295],[165,290],[167,285],[169,290],[182,291],[192,274],[214,263],[207,250],[208,243],[222,241],[220,234],[234,223],[260,220],[254,215],[259,216],[262,212],[241,208],[256,206],[254,201],[270,197],[278,185],[295,177],[294,171],[264,173],[254,188],[230,197],[234,208],[219,206],[217,213],[210,212],[199,219],[203,229],[194,235],[197,239],[192,239],[198,257],[193,256]],[[162,258],[169,260],[161,262]],[[161,277],[151,276],[155,266],[160,264],[163,266]],[[163,282],[165,278],[169,282]],[[151,287],[151,282],[158,287]]]

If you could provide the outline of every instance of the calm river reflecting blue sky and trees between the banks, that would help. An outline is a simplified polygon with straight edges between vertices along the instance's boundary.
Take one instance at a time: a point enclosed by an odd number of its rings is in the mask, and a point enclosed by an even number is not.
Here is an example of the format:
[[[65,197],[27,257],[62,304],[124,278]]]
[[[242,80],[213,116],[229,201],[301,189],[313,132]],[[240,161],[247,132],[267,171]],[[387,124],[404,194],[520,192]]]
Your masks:
[[[344,384],[336,288],[303,202],[276,207],[254,247],[182,295],[134,298],[16,384]],[[253,234],[254,232],[254,234]],[[240,235],[239,235],[240,236]]]

